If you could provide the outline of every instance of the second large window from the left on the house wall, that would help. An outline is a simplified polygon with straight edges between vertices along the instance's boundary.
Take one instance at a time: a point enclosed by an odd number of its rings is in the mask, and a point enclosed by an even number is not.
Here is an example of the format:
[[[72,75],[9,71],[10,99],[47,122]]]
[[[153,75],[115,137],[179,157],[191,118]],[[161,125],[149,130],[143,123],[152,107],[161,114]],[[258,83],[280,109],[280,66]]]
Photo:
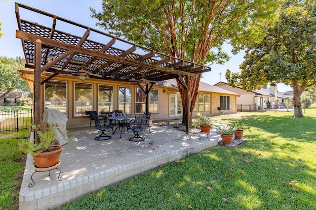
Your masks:
[[[92,84],[75,83],[74,116],[86,115],[92,110]]]

